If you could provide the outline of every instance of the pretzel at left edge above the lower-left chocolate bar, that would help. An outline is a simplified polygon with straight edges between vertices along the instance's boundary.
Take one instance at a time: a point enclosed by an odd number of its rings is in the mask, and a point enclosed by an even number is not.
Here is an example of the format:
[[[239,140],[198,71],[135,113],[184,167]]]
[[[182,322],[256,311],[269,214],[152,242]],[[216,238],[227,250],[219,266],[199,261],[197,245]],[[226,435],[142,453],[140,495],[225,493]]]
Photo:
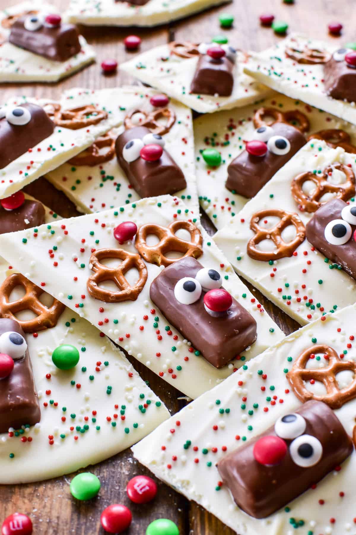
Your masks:
[[[11,292],[16,286],[22,286],[26,293],[20,299],[10,301]],[[23,277],[21,273],[12,273],[0,287],[0,317],[14,319],[21,325],[25,333],[44,331],[56,326],[59,316],[66,307],[57,299],[53,299],[51,307],[46,307],[39,301],[39,296],[43,293],[44,290],[42,288]],[[18,319],[16,314],[23,310],[31,310],[36,314],[36,318]]]

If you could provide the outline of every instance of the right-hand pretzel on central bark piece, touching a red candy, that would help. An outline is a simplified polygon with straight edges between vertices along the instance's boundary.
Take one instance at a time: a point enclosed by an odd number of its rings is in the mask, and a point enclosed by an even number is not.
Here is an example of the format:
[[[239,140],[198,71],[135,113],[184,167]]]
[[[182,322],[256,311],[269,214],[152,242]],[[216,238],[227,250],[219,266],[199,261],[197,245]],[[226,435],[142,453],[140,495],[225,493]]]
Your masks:
[[[178,238],[175,233],[183,228],[191,235],[191,241]],[[153,246],[146,243],[147,236],[154,234],[160,240]],[[136,234],[135,247],[140,255],[150,264],[169,266],[180,258],[167,258],[167,253],[183,253],[183,256],[199,258],[203,254],[203,238],[199,228],[189,221],[173,221],[168,227],[148,223],[139,228]]]

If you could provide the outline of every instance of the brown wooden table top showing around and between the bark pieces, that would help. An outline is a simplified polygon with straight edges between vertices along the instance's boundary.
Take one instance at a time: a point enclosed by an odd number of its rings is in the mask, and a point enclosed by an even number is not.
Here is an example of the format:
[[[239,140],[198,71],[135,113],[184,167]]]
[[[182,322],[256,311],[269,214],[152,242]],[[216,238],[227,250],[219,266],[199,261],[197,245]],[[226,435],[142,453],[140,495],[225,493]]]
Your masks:
[[[18,2],[15,0],[1,0],[0,7],[3,9],[16,3]],[[63,9],[66,0],[52,0],[52,3]],[[335,45],[339,43],[340,46],[347,41],[356,40],[354,0],[338,0],[337,2],[335,0],[312,0],[312,2],[295,0],[294,4],[284,4],[282,0],[269,0],[268,2],[234,0],[232,4],[210,9],[158,28],[81,27],[82,34],[96,48],[96,64],[56,84],[36,83],[23,86],[5,84],[1,90],[1,101],[5,102],[13,95],[58,98],[62,90],[72,87],[99,89],[134,83],[132,78],[121,73],[120,70],[114,75],[104,76],[100,68],[100,63],[106,58],[114,57],[120,64],[132,57],[133,53],[126,52],[123,45],[124,37],[132,33],[142,38],[141,51],[174,40],[204,41],[220,33],[225,33],[237,48],[262,50],[279,39],[270,28],[261,27],[259,24],[259,15],[266,11],[272,12],[276,19],[288,22],[290,31],[299,31],[311,37],[333,40]],[[223,12],[233,13],[235,17],[233,28],[225,31],[220,29],[218,21],[219,13]],[[327,25],[334,20],[344,24],[341,37],[328,35]],[[26,190],[63,217],[78,215],[74,205],[67,200],[66,196],[43,178],[30,184]],[[213,232],[212,225],[204,215],[203,224]],[[252,289],[250,285],[248,286]],[[252,291],[286,334],[299,327],[294,320],[283,314],[259,292],[254,289]],[[132,357],[129,359],[140,372],[141,377],[149,381],[150,386],[161,397],[172,414],[184,406],[186,401],[179,400],[182,395],[179,391]],[[101,490],[96,499],[84,503],[74,500],[69,492],[71,475],[36,484],[0,486],[0,524],[7,515],[14,511],[21,511],[33,520],[35,535],[37,533],[96,535],[104,533],[100,526],[101,511],[111,503],[124,503],[131,509],[133,516],[129,535],[144,535],[146,526],[155,518],[172,519],[179,526],[180,535],[233,535],[234,533],[221,524],[216,517],[194,502],[188,502],[183,496],[160,482],[158,482],[159,492],[154,502],[145,506],[136,506],[131,503],[125,492],[128,480],[138,473],[149,475],[149,472],[132,459],[130,450],[125,450],[105,462],[90,467],[90,470],[100,478]]]

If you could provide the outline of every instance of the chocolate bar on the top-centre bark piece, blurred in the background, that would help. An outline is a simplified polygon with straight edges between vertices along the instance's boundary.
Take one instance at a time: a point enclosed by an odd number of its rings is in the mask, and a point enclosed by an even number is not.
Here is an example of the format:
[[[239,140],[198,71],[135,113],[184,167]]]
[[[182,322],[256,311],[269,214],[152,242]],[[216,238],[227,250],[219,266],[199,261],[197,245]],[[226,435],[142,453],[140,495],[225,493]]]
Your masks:
[[[234,86],[234,63],[226,56],[213,59],[201,54],[191,83],[191,93],[228,97]]]

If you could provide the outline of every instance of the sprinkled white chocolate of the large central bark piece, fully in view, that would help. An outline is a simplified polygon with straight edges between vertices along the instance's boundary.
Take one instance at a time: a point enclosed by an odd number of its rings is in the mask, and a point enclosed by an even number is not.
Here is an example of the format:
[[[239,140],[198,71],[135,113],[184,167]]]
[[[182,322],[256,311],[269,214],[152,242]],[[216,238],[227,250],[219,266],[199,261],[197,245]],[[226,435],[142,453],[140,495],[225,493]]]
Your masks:
[[[35,284],[45,282],[46,291],[78,311],[81,317],[121,345],[130,355],[143,362],[160,377],[191,398],[196,398],[209,388],[231,375],[236,368],[283,337],[278,326],[263,307],[235,275],[226,257],[216,247],[204,229],[203,255],[197,260],[205,267],[220,271],[223,286],[256,319],[257,340],[230,364],[214,368],[202,356],[195,355],[193,346],[168,324],[161,311],[149,298],[153,279],[160,273],[159,266],[146,263],[147,281],[136,301],[105,303],[94,299],[88,292],[87,281],[93,274],[89,259],[92,249],[124,249],[137,253],[134,244],[118,244],[113,229],[123,221],[133,221],[137,227],[152,223],[167,227],[172,221],[198,221],[184,203],[170,195],[152,197],[125,205],[121,208],[75,217],[38,228],[33,232],[18,232],[0,236],[0,249],[8,262]],[[187,239],[186,231],[178,236]],[[148,244],[154,244],[148,238]],[[57,249],[53,250],[53,246]],[[48,251],[53,250],[51,258]],[[173,253],[172,253],[173,254]],[[177,257],[177,256],[176,256]],[[111,268],[118,261],[103,261]],[[138,274],[128,272],[126,278],[133,285]],[[111,282],[100,287],[114,290]]]

